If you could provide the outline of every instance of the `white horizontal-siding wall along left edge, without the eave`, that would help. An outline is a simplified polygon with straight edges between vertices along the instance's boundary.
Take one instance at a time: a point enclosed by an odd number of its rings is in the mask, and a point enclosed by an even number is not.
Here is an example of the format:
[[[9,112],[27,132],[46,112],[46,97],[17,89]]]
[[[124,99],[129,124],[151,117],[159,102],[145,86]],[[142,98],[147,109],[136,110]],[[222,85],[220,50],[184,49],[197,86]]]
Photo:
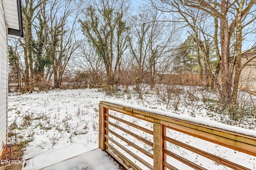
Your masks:
[[[7,65],[7,29],[3,4],[0,0],[0,156],[2,154],[2,142],[7,143]]]

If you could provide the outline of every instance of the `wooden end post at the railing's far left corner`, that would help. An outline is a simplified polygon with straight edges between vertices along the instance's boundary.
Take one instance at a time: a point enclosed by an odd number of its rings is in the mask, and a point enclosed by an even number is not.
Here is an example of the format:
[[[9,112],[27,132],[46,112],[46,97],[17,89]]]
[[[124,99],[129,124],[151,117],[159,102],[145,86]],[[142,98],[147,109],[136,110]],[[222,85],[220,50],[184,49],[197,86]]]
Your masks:
[[[108,127],[108,124],[105,123],[105,120],[108,120],[108,117],[105,113],[108,113],[108,109],[99,106],[99,148],[101,150],[106,149],[105,141],[108,142],[108,139],[105,137],[105,134],[108,135],[108,132],[105,130],[105,127]]]

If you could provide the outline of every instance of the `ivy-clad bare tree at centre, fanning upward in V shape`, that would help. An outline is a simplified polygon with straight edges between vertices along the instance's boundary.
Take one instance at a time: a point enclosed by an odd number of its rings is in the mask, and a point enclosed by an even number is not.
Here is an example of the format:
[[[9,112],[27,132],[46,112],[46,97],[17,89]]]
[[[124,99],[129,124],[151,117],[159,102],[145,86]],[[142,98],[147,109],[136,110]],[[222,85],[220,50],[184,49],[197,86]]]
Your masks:
[[[129,4],[126,0],[92,0],[85,4],[84,19],[80,20],[82,31],[103,61],[107,83],[112,85],[128,47],[128,27],[124,17]]]

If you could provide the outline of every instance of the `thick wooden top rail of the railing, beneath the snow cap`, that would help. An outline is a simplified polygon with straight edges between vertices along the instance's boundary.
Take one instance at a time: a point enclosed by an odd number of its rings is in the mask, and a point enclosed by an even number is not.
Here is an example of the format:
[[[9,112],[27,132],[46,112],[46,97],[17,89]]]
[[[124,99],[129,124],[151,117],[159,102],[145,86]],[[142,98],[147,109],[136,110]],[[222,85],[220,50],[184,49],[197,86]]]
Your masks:
[[[225,139],[227,139],[227,141],[228,141],[228,139],[230,139],[233,141],[232,145],[234,144],[233,146],[229,145],[232,147],[232,149],[235,149],[235,150],[238,149],[238,151],[245,152],[247,154],[252,154],[253,156],[256,156],[256,137],[247,136],[244,134],[230,132],[230,131],[225,131],[223,129],[218,129],[218,128],[214,128],[214,127],[207,127],[204,125],[200,125],[200,124],[196,124],[196,123],[192,123],[192,122],[188,122],[188,121],[183,121],[183,120],[174,119],[174,118],[170,118],[170,117],[166,117],[166,116],[162,116],[162,115],[157,115],[155,113],[147,113],[145,111],[135,110],[132,108],[127,108],[124,106],[119,106],[119,105],[111,104],[111,103],[107,103],[107,102],[100,102],[100,105],[102,105],[104,107],[108,107],[109,109],[112,109],[115,111],[119,111],[124,114],[128,114],[128,115],[136,117],[136,118],[140,118],[140,119],[149,121],[149,122],[160,123],[160,124],[166,125],[166,127],[173,127],[173,128],[175,128],[174,126],[176,126],[178,128],[184,127],[183,129],[186,129],[186,127],[188,127],[190,129],[190,131],[194,131],[191,133],[191,135],[194,134],[195,137],[202,137],[204,140],[208,140],[207,139],[208,135],[212,135],[212,137],[215,136],[214,137],[215,139],[218,139],[218,137],[222,137],[222,139],[225,138]],[[175,128],[175,130],[179,131],[179,129],[177,129],[177,128]],[[200,132],[204,132],[204,133],[200,133]],[[209,139],[208,141],[214,142],[215,139]],[[234,141],[237,141],[238,143],[236,143]],[[217,143],[218,145],[223,145],[226,147],[225,142],[219,142],[218,140],[216,142],[218,142]],[[236,146],[236,144],[239,144],[239,143],[244,143],[244,144],[248,144],[248,145],[245,145],[245,147],[243,149],[240,149],[241,145]],[[254,149],[252,149],[252,148],[254,148]],[[250,150],[250,151],[248,152],[248,150]]]

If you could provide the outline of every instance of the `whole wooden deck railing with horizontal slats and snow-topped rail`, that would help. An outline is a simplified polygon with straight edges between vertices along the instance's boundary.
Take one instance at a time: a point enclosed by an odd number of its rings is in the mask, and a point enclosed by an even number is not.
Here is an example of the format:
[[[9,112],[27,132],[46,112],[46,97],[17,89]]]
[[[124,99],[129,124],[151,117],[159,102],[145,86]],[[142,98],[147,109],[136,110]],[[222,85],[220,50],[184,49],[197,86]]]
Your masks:
[[[208,165],[208,167],[201,166],[202,164],[200,164],[200,162],[188,160],[184,158],[184,156],[174,153],[172,149],[166,147],[166,143],[171,143],[172,145],[189,150],[195,153],[194,156],[200,155],[204,158],[208,158],[212,160],[212,162],[215,162],[215,164],[222,164],[235,170],[252,169],[251,167],[248,168],[248,166],[244,164],[245,162],[243,162],[242,165],[237,164],[235,161],[232,162],[232,160],[227,160],[225,156],[209,153],[207,150],[191,146],[177,138],[173,139],[172,135],[167,135],[167,132],[170,130],[187,134],[198,140],[203,140],[202,145],[204,145],[206,141],[209,141],[210,143],[214,143],[212,145],[222,145],[229,149],[236,150],[234,152],[244,152],[252,157],[252,162],[254,161],[254,166],[256,166],[256,157],[254,157],[256,156],[255,131],[237,127],[234,127],[235,130],[233,131],[233,127],[221,123],[212,123],[213,125],[208,126],[207,121],[198,123],[199,121],[196,121],[196,119],[193,118],[190,119],[174,114],[168,115],[166,112],[118,102],[101,101],[99,107],[99,148],[108,152],[127,170],[180,169],[176,167],[176,164],[173,164],[170,161],[168,162],[167,157],[174,158],[197,170],[209,169],[210,165]],[[118,114],[122,114],[122,116],[118,117]],[[140,122],[124,120],[124,115],[126,117],[131,116],[132,118],[134,117],[149,122],[153,127],[150,129],[138,125]],[[121,124],[127,126],[124,127],[121,126]],[[142,135],[136,134],[135,131],[130,129],[137,129],[136,131],[142,132],[140,134],[151,135],[152,140],[147,137],[142,137]],[[252,135],[249,136],[246,134]],[[130,140],[130,137],[134,137],[136,141],[140,142],[134,142],[133,140]],[[145,145],[149,146],[149,149],[142,147]],[[150,149],[150,147],[152,149]]]

